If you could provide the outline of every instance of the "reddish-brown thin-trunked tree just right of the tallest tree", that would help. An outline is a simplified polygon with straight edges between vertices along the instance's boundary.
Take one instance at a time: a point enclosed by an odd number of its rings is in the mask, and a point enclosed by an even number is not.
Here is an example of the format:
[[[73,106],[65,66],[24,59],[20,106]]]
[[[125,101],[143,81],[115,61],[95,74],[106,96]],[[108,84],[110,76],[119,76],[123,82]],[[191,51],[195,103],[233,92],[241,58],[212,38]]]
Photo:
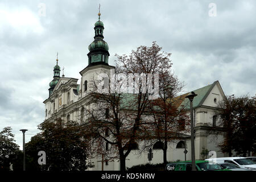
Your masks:
[[[177,96],[181,92],[183,84],[170,71],[159,75],[159,98],[150,102],[150,111],[153,115],[152,127],[147,131],[152,142],[154,139],[162,143],[159,146],[163,150],[163,163],[167,164],[168,142],[181,138],[188,131],[189,119],[185,106],[180,105],[184,97]],[[153,140],[152,140],[153,139]],[[151,143],[151,142],[150,142]]]

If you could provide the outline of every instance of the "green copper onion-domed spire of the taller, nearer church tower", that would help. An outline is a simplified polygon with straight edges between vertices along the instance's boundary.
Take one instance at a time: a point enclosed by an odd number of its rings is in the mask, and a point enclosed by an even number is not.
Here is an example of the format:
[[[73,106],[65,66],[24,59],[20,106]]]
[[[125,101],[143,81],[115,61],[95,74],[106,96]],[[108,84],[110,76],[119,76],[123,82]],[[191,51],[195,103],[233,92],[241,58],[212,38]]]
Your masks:
[[[89,45],[88,67],[96,64],[108,64],[109,46],[103,39],[104,24],[100,20],[101,14],[98,13],[98,21],[94,24],[94,41]]]

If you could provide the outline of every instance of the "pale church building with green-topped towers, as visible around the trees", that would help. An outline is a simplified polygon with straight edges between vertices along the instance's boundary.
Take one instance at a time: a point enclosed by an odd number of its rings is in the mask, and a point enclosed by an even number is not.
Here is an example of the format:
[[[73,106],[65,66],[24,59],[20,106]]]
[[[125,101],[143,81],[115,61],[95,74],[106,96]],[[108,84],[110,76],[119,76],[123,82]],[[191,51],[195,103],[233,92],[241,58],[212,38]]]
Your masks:
[[[81,117],[84,113],[85,107],[90,107],[89,93],[91,91],[89,81],[98,73],[110,74],[110,69],[113,66],[108,64],[109,47],[103,40],[104,24],[100,21],[100,14],[98,21],[95,23],[94,41],[89,45],[88,66],[80,71],[80,84],[77,84],[79,79],[70,77],[60,77],[60,67],[58,60],[53,68],[53,80],[49,86],[49,97],[43,102],[45,104],[45,120],[54,122],[56,119],[61,119],[65,122],[70,120],[79,123],[86,122],[85,117]],[[220,130],[218,127],[218,118],[214,115],[217,108],[218,101],[225,98],[224,92],[221,88],[220,82],[215,81],[212,84],[193,90],[197,94],[193,101],[193,110],[195,116],[195,154],[196,159],[201,159],[201,152],[205,149],[208,151],[215,151],[217,157],[225,156],[220,152],[218,143],[223,140],[223,135],[218,133],[211,134],[212,129]],[[183,102],[185,105],[188,100],[185,99],[187,94],[183,94]],[[188,114],[189,114],[189,108]],[[148,163],[147,153],[139,154],[140,143],[138,143],[138,150],[132,150],[126,158],[126,167],[132,167],[138,164]],[[184,154],[187,150],[187,154]],[[158,147],[153,147],[154,157],[151,164],[163,163],[163,151]],[[167,150],[167,161],[191,159],[191,136],[189,133],[184,134],[182,139],[169,143]],[[101,156],[93,159],[94,168],[89,170],[101,170],[102,162]],[[119,162],[104,162],[104,170],[119,170]]]

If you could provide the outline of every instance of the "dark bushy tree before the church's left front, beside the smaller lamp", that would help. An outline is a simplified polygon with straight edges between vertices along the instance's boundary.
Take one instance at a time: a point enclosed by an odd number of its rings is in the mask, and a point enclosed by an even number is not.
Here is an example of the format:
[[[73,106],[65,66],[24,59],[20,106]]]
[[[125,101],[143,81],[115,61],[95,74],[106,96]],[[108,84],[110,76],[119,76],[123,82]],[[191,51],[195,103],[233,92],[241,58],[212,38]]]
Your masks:
[[[26,143],[31,169],[84,171],[93,166],[88,160],[90,155],[87,135],[77,122],[64,123],[59,119],[56,122],[43,122],[39,129],[42,133]],[[46,165],[39,166],[39,151],[46,152]]]

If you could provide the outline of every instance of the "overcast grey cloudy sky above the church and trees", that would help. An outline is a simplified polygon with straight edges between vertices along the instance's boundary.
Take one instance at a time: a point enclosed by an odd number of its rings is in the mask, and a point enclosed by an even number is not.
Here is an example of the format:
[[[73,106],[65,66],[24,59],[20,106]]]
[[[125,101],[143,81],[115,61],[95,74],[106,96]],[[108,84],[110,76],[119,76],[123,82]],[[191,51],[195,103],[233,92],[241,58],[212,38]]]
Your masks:
[[[184,92],[218,80],[226,95],[256,93],[256,1],[1,0],[0,130],[11,126],[19,146],[19,130],[28,142],[44,120],[56,52],[66,77],[80,79],[88,65],[99,3],[110,65],[156,41]]]

